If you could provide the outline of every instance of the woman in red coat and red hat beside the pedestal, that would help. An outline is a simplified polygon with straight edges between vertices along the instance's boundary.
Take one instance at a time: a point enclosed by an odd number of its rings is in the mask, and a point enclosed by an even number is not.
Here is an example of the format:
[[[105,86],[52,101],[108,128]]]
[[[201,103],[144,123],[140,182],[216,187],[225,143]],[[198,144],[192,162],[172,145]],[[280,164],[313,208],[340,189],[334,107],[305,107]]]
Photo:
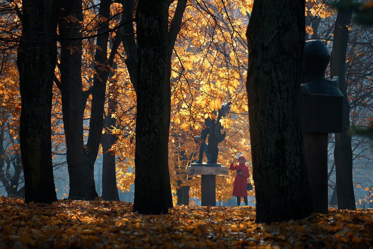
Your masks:
[[[233,165],[235,160],[238,161],[238,164]],[[237,197],[237,206],[241,204],[241,197],[243,197],[245,205],[247,206],[247,178],[250,177],[249,167],[245,165],[246,158],[244,156],[239,156],[238,159],[234,158],[233,162],[229,166],[229,169],[236,171],[232,196]]]

